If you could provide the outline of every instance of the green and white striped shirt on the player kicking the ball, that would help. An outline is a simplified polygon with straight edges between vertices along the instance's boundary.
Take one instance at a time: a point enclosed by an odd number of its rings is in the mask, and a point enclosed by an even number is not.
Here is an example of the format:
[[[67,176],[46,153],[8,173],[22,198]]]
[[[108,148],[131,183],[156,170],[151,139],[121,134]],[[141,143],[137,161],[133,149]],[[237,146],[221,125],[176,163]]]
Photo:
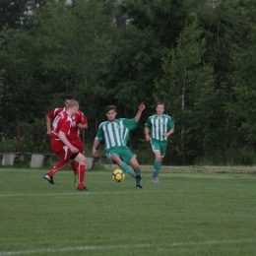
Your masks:
[[[137,127],[135,118],[115,119],[113,122],[105,121],[99,124],[96,140],[105,141],[105,150],[117,146],[126,146],[130,130]]]

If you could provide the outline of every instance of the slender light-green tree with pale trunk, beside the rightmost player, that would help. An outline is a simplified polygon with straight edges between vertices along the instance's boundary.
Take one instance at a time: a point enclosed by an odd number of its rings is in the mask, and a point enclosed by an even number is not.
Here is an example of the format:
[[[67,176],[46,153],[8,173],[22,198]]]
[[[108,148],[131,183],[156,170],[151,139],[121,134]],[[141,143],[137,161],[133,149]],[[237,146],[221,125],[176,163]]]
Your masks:
[[[203,61],[205,51],[206,40],[195,19],[180,33],[177,47],[162,58],[163,77],[155,83],[155,99],[165,103],[175,123],[166,158],[172,163],[191,164],[203,154],[205,122],[198,111],[214,84],[213,67]]]

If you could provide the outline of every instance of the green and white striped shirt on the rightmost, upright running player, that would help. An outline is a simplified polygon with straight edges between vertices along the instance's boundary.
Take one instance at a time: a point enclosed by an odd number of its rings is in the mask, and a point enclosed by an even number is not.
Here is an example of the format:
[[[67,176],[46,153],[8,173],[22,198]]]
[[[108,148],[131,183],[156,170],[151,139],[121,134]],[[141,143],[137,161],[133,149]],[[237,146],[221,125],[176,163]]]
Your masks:
[[[167,140],[162,134],[174,129],[171,117],[166,114],[162,114],[161,117],[157,114],[150,116],[145,126],[151,129],[151,138],[159,141]]]

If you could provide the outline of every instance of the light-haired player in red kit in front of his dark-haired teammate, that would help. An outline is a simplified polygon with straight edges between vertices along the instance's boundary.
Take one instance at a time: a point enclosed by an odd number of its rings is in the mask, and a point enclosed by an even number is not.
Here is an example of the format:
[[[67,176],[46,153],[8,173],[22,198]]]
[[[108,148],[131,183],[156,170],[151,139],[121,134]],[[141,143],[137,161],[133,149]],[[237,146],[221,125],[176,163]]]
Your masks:
[[[52,169],[43,175],[43,177],[51,184],[54,184],[54,173],[66,165],[70,160],[75,160],[79,163],[79,185],[77,189],[80,191],[87,191],[85,186],[86,157],[80,153],[79,149],[69,140],[73,123],[72,117],[74,117],[78,111],[79,103],[75,99],[72,99],[66,106],[66,111],[60,112],[54,119],[51,130],[51,150],[62,160],[59,160]],[[63,165],[63,163],[65,164]]]

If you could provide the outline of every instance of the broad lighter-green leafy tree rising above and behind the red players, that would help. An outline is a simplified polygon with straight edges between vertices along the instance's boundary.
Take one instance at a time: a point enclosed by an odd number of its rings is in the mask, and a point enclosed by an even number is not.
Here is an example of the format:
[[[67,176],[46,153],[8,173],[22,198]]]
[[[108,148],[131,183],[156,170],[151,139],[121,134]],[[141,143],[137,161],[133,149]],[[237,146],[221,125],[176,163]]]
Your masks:
[[[42,67],[61,74],[62,92],[75,96],[89,117],[96,116],[96,96],[104,92],[96,78],[107,69],[118,40],[112,25],[114,2],[76,0],[68,5],[52,1],[38,13],[38,36],[45,48]]]

